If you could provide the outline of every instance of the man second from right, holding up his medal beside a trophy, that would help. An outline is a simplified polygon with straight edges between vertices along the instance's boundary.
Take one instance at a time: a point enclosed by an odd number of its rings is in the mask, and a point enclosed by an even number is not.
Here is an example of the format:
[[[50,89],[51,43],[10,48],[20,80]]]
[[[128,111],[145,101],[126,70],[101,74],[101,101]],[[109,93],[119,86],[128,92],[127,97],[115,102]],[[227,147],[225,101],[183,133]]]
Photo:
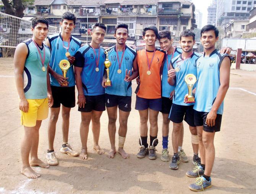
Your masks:
[[[178,164],[180,163],[180,156],[178,156],[178,139],[183,125],[183,119],[188,123],[192,136],[191,140],[194,151],[193,164],[200,164],[200,158],[198,157],[198,136],[196,126],[194,125],[194,103],[184,103],[184,96],[188,93],[188,88],[184,81],[185,76],[187,74],[196,75],[195,60],[198,58],[198,55],[193,52],[195,42],[194,32],[191,30],[181,32],[180,46],[182,53],[172,59],[172,68],[168,71],[168,82],[170,85],[175,85],[173,104],[169,115],[170,120],[173,122],[173,157],[169,167],[175,170],[178,169]]]

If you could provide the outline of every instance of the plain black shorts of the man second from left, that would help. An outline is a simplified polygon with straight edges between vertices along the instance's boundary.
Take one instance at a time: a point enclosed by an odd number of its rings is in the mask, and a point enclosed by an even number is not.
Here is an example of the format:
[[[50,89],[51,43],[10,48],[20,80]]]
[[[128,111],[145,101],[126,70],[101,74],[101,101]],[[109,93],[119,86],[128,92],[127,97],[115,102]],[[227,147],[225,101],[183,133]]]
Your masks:
[[[52,108],[58,108],[60,104],[68,108],[76,106],[75,86],[59,87],[51,85],[51,88],[53,98]]]

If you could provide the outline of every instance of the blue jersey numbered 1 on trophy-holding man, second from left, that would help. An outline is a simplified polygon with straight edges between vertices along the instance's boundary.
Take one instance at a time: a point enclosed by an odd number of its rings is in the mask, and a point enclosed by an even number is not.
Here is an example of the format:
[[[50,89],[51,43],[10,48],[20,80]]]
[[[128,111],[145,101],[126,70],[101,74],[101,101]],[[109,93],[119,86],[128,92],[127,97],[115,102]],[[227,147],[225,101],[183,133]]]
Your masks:
[[[49,42],[50,42],[50,49],[52,51],[52,55],[51,55],[51,59],[50,59],[50,67],[52,68],[53,71],[55,71],[57,74],[63,75],[62,70],[60,69],[60,61],[62,59],[68,59],[65,55],[65,53],[67,52],[68,48],[68,42],[63,42],[62,40],[62,36],[59,34],[54,34],[54,35],[50,35],[48,37]],[[64,46],[66,48],[63,47],[63,43]],[[70,53],[71,56],[74,56],[76,51],[81,47],[81,41],[78,40],[77,38],[71,36],[70,37],[70,47],[68,49],[68,52]],[[68,77],[68,86],[74,86],[75,84],[75,74],[74,74],[74,68],[73,66],[71,66],[67,73],[66,73],[66,77]],[[52,74],[50,74],[50,81],[51,81],[51,85],[53,86],[61,86],[58,81],[53,77]]]

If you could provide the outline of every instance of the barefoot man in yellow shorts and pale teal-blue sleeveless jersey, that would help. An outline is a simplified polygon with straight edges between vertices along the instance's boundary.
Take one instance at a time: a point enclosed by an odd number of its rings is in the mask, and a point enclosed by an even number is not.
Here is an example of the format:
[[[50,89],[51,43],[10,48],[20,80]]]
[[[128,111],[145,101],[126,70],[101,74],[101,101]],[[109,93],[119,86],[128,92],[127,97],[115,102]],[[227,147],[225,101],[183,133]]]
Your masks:
[[[42,120],[48,117],[48,107],[53,104],[48,74],[50,48],[43,44],[48,33],[48,21],[42,17],[33,18],[31,30],[33,37],[19,43],[15,50],[14,70],[21,124],[24,125],[21,173],[28,178],[38,178],[41,175],[31,166],[49,168],[37,156],[39,128]]]

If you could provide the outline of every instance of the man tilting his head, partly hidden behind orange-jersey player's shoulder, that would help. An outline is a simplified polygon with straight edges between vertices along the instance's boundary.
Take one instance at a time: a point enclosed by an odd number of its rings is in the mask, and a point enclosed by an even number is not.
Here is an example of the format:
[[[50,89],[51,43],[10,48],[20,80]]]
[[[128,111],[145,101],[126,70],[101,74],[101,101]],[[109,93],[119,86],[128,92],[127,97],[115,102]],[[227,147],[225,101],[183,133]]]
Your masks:
[[[180,48],[175,48],[172,43],[173,39],[171,37],[171,32],[169,30],[162,30],[158,33],[158,40],[161,46],[161,49],[166,52],[166,57],[164,60],[164,67],[162,70],[162,156],[161,160],[164,162],[168,162],[169,159],[169,151],[168,151],[168,137],[169,137],[169,113],[172,107],[172,99],[174,94],[175,86],[171,86],[168,83],[168,71],[171,68],[171,60],[176,56],[180,55],[182,50]],[[180,160],[183,162],[188,162],[188,157],[182,149],[183,144],[183,133],[184,128],[182,125],[179,137],[179,146],[178,146],[178,155],[180,156]]]

